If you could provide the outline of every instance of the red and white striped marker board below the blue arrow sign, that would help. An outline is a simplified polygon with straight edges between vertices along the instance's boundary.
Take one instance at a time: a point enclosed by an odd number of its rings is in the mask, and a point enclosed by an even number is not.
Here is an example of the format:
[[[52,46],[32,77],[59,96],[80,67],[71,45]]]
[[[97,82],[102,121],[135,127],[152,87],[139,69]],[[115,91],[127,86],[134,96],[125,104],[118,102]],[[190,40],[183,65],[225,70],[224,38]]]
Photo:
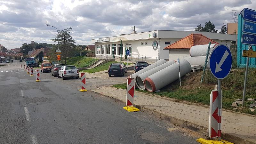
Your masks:
[[[215,85],[215,89],[210,95],[210,117],[209,117],[209,137],[210,139],[221,136],[221,108],[218,108],[218,85]]]

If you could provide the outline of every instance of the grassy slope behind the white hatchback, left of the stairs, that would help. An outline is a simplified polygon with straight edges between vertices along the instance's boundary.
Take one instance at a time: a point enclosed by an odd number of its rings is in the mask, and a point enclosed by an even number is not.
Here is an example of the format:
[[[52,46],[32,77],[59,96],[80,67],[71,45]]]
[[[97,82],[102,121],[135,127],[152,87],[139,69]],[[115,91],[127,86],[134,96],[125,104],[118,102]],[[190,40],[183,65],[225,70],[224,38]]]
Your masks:
[[[68,58],[67,65],[74,65],[76,67],[86,67],[97,60],[98,59],[87,58],[87,57],[73,57],[73,58]]]

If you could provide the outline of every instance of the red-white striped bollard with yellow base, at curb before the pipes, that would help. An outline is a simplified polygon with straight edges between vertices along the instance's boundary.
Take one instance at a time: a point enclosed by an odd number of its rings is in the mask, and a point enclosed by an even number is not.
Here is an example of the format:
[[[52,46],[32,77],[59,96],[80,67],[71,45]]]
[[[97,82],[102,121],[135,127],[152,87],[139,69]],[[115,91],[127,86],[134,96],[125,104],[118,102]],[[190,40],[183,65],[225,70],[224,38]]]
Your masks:
[[[126,88],[126,107],[125,110],[129,112],[140,111],[140,109],[133,107],[134,105],[134,91],[135,91],[135,79],[127,79],[127,88]]]

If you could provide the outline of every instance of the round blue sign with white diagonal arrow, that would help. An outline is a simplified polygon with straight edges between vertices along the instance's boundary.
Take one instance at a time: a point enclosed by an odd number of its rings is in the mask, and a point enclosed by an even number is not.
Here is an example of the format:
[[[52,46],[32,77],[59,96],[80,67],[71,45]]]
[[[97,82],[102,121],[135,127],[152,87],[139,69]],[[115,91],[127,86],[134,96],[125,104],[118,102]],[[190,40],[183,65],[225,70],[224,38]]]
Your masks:
[[[208,66],[212,75],[217,79],[227,77],[232,67],[230,49],[224,44],[214,47],[209,56]]]

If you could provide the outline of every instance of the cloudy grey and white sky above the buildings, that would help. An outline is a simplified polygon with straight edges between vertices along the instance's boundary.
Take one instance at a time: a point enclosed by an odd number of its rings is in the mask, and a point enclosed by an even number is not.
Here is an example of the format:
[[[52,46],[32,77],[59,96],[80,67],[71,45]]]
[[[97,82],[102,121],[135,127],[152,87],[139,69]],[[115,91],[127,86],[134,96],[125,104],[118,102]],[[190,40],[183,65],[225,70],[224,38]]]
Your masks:
[[[233,22],[232,10],[256,8],[256,0],[0,0],[0,44],[57,44],[57,30],[73,28],[76,44],[151,30],[195,30],[211,20],[220,32]]]

